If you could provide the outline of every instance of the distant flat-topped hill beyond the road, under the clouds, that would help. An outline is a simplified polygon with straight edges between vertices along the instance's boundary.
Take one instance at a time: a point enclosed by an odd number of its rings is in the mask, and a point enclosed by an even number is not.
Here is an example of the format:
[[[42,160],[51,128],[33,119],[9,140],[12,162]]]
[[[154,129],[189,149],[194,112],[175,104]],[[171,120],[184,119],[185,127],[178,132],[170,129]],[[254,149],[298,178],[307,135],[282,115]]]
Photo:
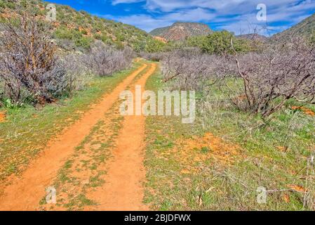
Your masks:
[[[163,37],[168,41],[184,40],[187,37],[201,36],[212,33],[208,25],[203,23],[174,23],[170,27],[161,27],[152,30],[153,36]]]

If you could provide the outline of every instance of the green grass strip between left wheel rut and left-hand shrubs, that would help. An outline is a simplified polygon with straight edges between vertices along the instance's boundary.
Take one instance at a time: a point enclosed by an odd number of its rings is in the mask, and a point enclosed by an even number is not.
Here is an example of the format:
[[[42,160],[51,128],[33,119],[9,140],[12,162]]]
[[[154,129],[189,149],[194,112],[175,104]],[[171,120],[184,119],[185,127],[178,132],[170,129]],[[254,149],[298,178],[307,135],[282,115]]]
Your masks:
[[[20,173],[53,136],[78,120],[91,104],[112,91],[139,66],[140,63],[135,63],[133,68],[111,77],[95,78],[72,98],[46,105],[40,110],[32,106],[7,109],[7,121],[0,123],[0,179]]]

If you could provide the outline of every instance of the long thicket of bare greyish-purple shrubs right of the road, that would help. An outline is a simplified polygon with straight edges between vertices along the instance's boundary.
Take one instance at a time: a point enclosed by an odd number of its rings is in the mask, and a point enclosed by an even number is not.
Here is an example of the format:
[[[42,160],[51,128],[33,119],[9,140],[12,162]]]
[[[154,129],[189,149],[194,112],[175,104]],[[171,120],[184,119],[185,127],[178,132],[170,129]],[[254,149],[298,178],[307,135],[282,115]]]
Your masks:
[[[232,42],[233,44],[233,42]],[[269,117],[290,99],[315,103],[315,49],[303,39],[230,56],[174,51],[163,57],[163,81],[174,89],[217,85],[240,110]]]

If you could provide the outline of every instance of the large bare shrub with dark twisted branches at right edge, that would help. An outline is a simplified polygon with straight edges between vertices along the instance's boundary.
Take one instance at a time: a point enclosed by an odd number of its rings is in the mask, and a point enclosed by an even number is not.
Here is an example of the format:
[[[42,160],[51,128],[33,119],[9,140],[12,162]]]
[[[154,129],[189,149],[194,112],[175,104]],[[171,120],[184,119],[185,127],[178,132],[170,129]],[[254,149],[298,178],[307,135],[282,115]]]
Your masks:
[[[290,98],[315,103],[315,49],[303,39],[232,58],[243,82],[243,101],[234,101],[239,108],[269,117]]]

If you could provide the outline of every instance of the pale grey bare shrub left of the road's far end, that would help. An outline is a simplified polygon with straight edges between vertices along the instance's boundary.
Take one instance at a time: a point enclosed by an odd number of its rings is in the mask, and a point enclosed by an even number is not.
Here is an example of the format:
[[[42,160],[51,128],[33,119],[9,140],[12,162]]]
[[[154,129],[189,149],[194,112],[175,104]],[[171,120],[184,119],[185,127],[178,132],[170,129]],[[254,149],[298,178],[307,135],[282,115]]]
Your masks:
[[[113,72],[128,68],[133,60],[130,48],[116,50],[97,41],[91,51],[83,56],[83,62],[95,75],[105,77]]]

